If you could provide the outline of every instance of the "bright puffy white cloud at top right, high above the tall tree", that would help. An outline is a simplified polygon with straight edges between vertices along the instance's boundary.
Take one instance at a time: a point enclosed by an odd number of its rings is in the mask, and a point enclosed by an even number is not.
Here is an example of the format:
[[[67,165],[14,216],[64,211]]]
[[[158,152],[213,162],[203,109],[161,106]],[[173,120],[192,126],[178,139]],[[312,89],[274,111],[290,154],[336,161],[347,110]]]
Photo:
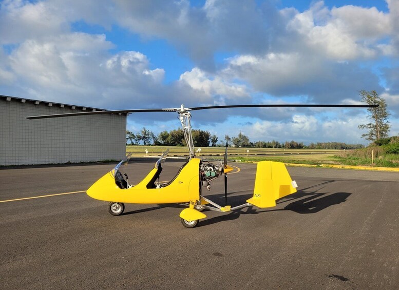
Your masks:
[[[374,7],[348,5],[328,11],[322,2],[297,13],[287,28],[298,32],[312,53],[333,60],[373,58],[381,52],[379,41],[392,32],[389,15]]]

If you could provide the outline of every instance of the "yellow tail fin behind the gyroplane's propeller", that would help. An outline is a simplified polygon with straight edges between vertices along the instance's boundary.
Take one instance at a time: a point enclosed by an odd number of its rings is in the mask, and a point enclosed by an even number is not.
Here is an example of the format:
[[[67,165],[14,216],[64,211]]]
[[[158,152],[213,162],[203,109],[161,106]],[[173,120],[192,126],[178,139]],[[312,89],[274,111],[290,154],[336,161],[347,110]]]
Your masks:
[[[284,163],[261,161],[256,168],[254,196],[246,202],[257,207],[276,206],[276,200],[296,192],[295,187]]]

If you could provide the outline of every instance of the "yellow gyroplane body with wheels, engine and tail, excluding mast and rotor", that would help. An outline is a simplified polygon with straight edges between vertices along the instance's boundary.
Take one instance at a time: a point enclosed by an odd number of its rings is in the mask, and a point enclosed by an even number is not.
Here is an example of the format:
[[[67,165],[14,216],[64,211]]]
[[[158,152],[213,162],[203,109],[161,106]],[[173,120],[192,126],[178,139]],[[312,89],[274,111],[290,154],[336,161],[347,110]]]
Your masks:
[[[233,167],[227,165],[226,162],[217,166],[199,158],[192,158],[183,164],[172,180],[156,183],[162,171],[161,164],[166,156],[167,151],[155,163],[154,169],[135,186],[130,185],[127,175],[122,175],[119,170],[121,165],[128,162],[127,157],[94,183],[87,190],[87,195],[94,199],[109,201],[108,210],[114,216],[122,214],[124,203],[188,203],[189,207],[180,212],[181,222],[185,227],[195,227],[200,219],[206,218],[206,215],[201,212],[204,208],[227,212],[252,205],[262,208],[271,207],[276,205],[277,199],[296,192],[296,183],[291,180],[283,163],[262,161],[257,165],[254,196],[245,204],[222,207],[203,197],[201,186],[208,186],[209,180],[222,174],[226,176]]]

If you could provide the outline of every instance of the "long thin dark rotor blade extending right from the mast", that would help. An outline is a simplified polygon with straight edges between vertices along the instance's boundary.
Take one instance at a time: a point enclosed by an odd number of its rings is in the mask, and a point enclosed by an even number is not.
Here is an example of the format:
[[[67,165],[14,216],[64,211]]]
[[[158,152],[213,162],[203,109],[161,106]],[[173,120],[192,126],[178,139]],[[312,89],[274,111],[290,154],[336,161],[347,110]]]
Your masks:
[[[275,108],[275,107],[302,107],[302,108],[376,108],[378,105],[305,105],[305,104],[267,104],[267,105],[224,105],[189,108],[192,111],[223,108]]]

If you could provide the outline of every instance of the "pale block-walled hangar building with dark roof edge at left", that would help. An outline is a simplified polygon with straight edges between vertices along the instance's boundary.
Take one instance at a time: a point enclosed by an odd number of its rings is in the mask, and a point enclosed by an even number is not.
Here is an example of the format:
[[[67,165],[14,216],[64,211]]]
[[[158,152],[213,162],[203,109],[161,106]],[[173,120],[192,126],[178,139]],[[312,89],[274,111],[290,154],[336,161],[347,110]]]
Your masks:
[[[0,165],[121,160],[126,114],[28,120],[27,116],[103,110],[0,95]]]

